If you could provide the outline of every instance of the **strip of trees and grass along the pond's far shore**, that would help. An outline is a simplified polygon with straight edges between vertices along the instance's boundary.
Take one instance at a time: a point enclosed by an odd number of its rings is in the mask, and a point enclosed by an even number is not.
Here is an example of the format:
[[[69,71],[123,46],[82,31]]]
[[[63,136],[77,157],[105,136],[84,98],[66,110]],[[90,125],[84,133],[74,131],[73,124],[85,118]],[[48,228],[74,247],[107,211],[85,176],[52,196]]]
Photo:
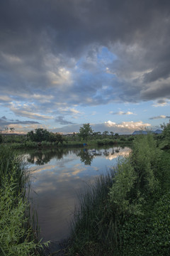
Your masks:
[[[142,131],[138,131],[142,133]],[[147,133],[147,131],[145,131]],[[34,149],[42,147],[72,147],[72,146],[104,146],[116,144],[131,144],[135,134],[120,135],[105,131],[94,132],[90,124],[83,124],[79,133],[60,134],[48,132],[47,129],[38,128],[27,134],[14,134],[13,129],[9,133],[0,134],[0,143],[8,144],[13,149]],[[159,137],[160,134],[155,134]]]

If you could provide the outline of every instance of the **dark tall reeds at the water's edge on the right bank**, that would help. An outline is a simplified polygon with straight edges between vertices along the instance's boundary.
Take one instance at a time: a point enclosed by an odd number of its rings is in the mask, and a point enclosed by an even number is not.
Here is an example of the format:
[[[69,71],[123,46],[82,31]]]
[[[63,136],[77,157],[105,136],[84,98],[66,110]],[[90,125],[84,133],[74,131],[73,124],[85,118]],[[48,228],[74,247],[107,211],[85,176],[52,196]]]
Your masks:
[[[116,250],[120,239],[116,233],[118,221],[108,198],[114,176],[112,169],[79,193],[79,206],[71,224],[69,255],[103,256],[109,248]]]

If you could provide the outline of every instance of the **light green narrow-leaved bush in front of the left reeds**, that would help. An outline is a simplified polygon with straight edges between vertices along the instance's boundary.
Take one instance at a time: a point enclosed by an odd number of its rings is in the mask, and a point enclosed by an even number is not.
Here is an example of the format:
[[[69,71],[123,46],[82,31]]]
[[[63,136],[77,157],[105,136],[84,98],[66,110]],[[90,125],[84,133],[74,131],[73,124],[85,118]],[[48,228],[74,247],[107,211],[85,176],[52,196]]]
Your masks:
[[[33,230],[27,228],[26,210],[28,203],[23,201],[22,193],[16,196],[16,186],[11,180],[0,188],[0,252],[1,255],[35,255],[35,250],[42,248],[32,238]]]

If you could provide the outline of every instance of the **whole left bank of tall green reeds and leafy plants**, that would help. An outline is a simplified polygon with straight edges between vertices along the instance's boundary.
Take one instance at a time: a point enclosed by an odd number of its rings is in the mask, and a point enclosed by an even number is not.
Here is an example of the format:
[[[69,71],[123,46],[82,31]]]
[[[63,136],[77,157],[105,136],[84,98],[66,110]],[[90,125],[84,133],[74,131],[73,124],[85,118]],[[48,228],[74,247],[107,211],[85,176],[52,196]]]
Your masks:
[[[39,255],[42,245],[26,196],[26,164],[8,146],[0,146],[0,254]]]

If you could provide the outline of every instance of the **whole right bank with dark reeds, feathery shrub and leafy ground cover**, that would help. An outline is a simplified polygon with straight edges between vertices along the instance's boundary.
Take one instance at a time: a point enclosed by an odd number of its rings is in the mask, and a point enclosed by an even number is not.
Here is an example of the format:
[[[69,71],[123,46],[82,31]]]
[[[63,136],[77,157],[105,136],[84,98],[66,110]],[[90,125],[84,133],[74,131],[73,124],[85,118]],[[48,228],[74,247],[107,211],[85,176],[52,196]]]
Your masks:
[[[81,193],[68,255],[170,254],[170,155],[158,144],[136,137],[132,154]]]

